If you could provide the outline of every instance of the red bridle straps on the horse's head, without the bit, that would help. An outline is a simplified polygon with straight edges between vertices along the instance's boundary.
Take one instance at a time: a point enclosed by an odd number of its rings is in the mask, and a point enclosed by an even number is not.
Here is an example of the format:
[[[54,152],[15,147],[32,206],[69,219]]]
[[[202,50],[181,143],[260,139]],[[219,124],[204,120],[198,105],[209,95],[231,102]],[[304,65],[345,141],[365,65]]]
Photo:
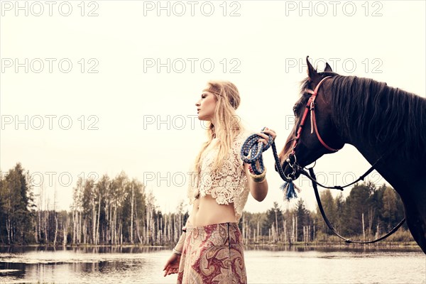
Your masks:
[[[303,126],[305,126],[305,121],[306,121],[306,116],[307,116],[307,112],[308,111],[311,111],[311,117],[310,117],[310,119],[311,119],[311,133],[315,129],[315,133],[317,133],[318,140],[320,141],[320,143],[322,144],[322,146],[324,146],[325,148],[327,148],[327,150],[332,151],[332,152],[337,152],[337,151],[340,150],[340,149],[334,149],[334,148],[329,147],[322,140],[322,138],[320,136],[320,133],[318,132],[318,129],[317,129],[317,120],[315,119],[315,99],[317,98],[318,89],[320,89],[321,84],[325,80],[327,80],[329,78],[331,78],[331,76],[324,77],[320,81],[320,83],[317,84],[317,87],[315,87],[314,91],[312,91],[312,89],[307,89],[306,90],[306,92],[312,94],[312,96],[307,100],[306,109],[305,109],[305,112],[303,113],[302,120],[300,121],[299,129],[297,130],[297,135],[296,135],[295,141],[293,142],[293,148],[292,148],[292,151],[291,151],[291,153],[293,155],[295,155],[295,148],[297,146],[297,143],[299,142],[300,134],[302,133]]]

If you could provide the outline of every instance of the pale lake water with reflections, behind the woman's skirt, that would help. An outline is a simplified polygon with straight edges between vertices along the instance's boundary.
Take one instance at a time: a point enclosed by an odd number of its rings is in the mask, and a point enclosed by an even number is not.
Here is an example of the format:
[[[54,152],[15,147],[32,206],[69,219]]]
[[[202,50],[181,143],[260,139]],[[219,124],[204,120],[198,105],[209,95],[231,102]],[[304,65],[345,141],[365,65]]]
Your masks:
[[[162,247],[0,247],[1,283],[175,283]],[[249,283],[426,283],[413,248],[261,246],[245,251]]]

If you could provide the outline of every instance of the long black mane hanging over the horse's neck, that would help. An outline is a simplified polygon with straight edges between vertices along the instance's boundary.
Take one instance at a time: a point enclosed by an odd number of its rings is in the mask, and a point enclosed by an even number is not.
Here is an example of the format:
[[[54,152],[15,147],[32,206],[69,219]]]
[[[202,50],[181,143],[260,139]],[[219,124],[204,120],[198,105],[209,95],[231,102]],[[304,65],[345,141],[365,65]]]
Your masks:
[[[426,99],[368,78],[322,74],[333,76],[332,119],[342,136],[362,136],[370,146],[405,157],[426,157]],[[308,85],[304,80],[302,89]]]

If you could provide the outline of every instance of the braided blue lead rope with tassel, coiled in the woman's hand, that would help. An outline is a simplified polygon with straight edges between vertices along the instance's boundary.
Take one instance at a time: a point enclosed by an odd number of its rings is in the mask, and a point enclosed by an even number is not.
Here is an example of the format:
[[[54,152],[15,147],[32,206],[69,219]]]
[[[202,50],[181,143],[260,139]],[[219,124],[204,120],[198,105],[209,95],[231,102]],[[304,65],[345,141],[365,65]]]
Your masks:
[[[262,129],[261,133],[263,133]],[[265,145],[262,142],[258,142],[258,138],[262,138],[261,136],[258,136],[257,134],[252,134],[249,136],[246,141],[244,141],[243,146],[241,146],[241,160],[244,161],[244,163],[249,163],[251,165],[251,168],[253,169],[253,172],[256,175],[260,175],[265,170],[265,166],[263,165],[263,158],[262,153],[272,145],[272,151],[273,156],[275,158],[275,166],[278,165],[278,173],[280,174],[281,178],[285,180],[285,183],[280,186],[280,190],[283,190],[285,192],[285,199],[290,200],[292,198],[297,198],[297,194],[295,192],[295,189],[300,192],[300,189],[297,188],[293,184],[293,180],[288,180],[288,178],[285,178],[285,175],[283,173],[283,169],[280,168],[280,160],[278,158],[277,149],[275,148],[275,143],[273,142],[273,139],[271,135],[267,134],[269,136],[268,143]],[[249,153],[252,158],[249,158]],[[256,161],[259,162],[260,169],[256,166]]]

